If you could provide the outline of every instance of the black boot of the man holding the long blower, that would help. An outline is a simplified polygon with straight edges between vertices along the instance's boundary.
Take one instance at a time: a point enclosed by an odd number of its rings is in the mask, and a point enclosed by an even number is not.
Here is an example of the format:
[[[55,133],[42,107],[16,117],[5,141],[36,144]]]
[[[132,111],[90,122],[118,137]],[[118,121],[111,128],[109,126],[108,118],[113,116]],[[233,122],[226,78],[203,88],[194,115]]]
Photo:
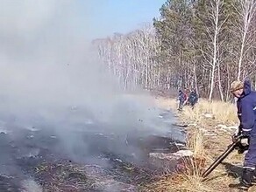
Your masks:
[[[240,191],[247,191],[250,187],[252,187],[254,173],[255,172],[253,169],[244,168],[240,183],[230,185],[230,187],[240,189]]]

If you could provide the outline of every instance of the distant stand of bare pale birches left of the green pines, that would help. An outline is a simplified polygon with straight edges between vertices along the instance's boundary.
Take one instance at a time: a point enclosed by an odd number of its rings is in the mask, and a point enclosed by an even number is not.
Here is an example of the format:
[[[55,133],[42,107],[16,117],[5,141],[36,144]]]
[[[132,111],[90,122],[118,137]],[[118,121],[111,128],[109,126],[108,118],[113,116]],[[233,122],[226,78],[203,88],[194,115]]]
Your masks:
[[[152,25],[144,24],[131,33],[116,33],[112,38],[96,39],[93,43],[99,57],[124,89],[140,85],[151,89],[160,85],[159,67],[154,59],[159,40]]]

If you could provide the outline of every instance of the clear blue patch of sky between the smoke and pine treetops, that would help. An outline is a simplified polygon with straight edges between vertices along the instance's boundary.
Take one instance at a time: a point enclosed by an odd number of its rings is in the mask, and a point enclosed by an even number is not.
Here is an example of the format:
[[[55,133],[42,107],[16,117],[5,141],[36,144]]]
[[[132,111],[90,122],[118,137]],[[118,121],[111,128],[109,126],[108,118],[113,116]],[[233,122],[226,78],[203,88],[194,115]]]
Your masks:
[[[159,17],[166,0],[81,0],[80,11],[89,21],[90,38],[104,38],[114,32],[126,33],[139,24]],[[84,10],[86,8],[86,10]],[[84,15],[83,15],[84,14]]]

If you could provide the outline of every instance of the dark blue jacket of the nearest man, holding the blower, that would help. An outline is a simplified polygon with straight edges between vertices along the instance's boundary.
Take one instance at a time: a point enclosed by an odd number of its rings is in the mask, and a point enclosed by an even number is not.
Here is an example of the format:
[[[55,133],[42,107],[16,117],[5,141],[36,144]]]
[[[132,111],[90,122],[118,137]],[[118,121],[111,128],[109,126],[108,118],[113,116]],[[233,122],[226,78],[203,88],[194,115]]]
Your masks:
[[[256,92],[252,91],[250,80],[246,79],[244,92],[237,102],[238,119],[244,134],[256,136]]]

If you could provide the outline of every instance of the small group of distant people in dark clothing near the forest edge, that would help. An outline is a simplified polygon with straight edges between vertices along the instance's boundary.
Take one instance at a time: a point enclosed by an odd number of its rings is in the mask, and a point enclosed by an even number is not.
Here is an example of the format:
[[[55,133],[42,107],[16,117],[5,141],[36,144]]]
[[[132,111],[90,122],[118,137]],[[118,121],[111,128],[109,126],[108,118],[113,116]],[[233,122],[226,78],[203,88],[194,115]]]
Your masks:
[[[178,107],[179,111],[181,111],[182,107],[186,105],[194,108],[194,106],[198,101],[198,94],[196,93],[195,89],[192,89],[190,93],[186,93],[180,89],[178,94],[178,100],[179,100],[179,107]]]

